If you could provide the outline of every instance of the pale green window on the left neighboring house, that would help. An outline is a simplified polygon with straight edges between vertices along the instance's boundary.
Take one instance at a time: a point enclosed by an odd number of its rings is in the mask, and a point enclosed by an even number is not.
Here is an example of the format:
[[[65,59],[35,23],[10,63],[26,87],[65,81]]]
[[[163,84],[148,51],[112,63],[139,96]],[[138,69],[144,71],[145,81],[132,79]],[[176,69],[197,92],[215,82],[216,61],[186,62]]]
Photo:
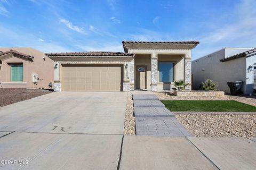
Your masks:
[[[23,81],[23,64],[15,63],[11,66],[11,81]]]

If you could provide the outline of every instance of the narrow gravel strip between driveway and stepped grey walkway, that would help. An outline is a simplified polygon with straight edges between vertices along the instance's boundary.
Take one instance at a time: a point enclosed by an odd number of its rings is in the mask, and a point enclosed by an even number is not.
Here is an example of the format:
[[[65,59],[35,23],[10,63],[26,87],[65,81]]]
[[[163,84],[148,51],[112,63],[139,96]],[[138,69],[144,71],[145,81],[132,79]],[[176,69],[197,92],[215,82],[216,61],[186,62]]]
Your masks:
[[[135,118],[133,117],[132,94],[128,92],[125,112],[124,135],[135,135]]]

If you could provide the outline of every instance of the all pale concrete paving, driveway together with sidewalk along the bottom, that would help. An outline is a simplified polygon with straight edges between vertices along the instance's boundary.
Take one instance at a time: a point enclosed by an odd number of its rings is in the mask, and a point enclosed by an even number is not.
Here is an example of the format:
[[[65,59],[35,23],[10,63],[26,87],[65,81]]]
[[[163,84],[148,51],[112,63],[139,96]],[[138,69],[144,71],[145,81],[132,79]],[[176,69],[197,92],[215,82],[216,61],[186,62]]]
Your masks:
[[[255,138],[123,137],[126,98],[54,92],[1,107],[0,169],[256,168]]]

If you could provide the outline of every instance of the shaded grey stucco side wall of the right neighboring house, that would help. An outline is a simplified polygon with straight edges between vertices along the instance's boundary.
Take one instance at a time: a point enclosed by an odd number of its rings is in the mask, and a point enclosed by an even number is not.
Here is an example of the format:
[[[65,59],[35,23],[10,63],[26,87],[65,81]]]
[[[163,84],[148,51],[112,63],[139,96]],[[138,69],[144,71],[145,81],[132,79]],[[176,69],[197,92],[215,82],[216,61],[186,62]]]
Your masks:
[[[246,50],[244,49],[243,52]],[[228,52],[228,54],[235,55],[237,53]],[[192,62],[194,90],[198,90],[200,84],[207,79],[218,82],[218,89],[225,92],[230,92],[227,86],[228,81],[242,80],[246,82],[246,58],[242,57],[227,62],[220,62],[223,58],[225,58],[225,49],[198,58]],[[246,86],[243,86],[242,90],[246,91]]]

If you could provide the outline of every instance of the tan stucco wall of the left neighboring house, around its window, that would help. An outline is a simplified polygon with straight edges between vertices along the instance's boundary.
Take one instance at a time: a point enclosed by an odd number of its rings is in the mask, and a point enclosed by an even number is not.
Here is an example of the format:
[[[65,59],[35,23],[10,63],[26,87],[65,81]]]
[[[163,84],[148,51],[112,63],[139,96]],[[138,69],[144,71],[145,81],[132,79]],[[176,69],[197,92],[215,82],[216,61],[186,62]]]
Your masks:
[[[10,81],[10,65],[8,63],[23,63],[23,82],[26,82],[26,85],[3,85],[0,84],[0,87],[16,87],[16,88],[48,88],[49,83],[54,81],[54,64],[53,61],[45,55],[43,52],[39,52],[33,48],[0,48],[0,51],[6,52],[10,49],[17,50],[20,53],[24,53],[30,56],[33,56],[34,62],[22,60],[21,58],[11,57],[2,61],[1,70],[0,70],[0,82],[11,82]],[[43,59],[45,57],[45,60]],[[37,85],[32,82],[32,74],[38,74],[38,83]]]

